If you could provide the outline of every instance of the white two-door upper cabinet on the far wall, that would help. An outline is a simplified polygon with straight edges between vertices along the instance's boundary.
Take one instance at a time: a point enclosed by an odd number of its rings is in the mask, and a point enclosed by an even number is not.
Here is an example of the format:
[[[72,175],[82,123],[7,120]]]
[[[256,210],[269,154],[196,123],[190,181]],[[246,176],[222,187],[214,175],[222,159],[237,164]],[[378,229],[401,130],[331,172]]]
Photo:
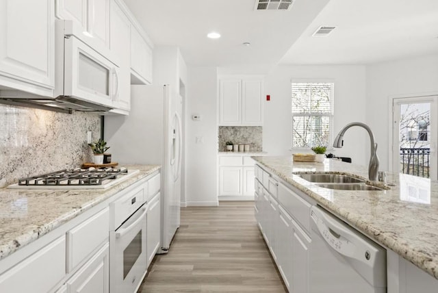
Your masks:
[[[221,79],[219,125],[263,125],[263,81]]]

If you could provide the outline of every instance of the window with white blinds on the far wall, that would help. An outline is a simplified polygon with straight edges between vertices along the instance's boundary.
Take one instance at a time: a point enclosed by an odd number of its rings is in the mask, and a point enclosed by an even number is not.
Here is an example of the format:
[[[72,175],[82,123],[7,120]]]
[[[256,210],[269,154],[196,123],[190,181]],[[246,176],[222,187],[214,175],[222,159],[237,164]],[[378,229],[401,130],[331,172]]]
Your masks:
[[[292,82],[292,148],[329,145],[333,88],[331,82]]]

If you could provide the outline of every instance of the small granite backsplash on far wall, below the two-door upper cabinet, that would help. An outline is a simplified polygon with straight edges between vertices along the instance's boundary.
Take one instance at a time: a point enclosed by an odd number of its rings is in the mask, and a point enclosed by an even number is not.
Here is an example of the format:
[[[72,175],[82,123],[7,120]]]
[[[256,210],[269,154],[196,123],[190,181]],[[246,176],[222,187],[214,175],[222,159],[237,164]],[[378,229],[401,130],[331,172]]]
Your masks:
[[[218,151],[226,151],[228,141],[233,144],[249,144],[250,151],[262,151],[263,127],[261,126],[220,126],[218,131]]]

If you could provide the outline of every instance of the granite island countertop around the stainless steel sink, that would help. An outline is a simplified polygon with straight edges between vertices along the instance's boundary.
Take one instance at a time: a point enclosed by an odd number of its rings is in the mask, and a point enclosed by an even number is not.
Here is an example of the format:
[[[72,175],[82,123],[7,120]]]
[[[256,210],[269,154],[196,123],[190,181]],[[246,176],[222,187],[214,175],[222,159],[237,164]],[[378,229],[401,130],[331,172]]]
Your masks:
[[[438,182],[387,174],[390,190],[320,188],[295,172],[334,172],[368,179],[368,167],[335,160],[292,162],[291,157],[253,157],[319,205],[379,244],[438,279]]]

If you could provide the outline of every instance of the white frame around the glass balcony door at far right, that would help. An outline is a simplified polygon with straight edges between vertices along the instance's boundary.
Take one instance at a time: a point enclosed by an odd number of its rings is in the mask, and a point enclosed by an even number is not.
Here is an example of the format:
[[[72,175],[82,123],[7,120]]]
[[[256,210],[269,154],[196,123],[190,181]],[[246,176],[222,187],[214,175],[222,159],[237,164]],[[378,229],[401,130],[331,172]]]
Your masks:
[[[388,133],[389,133],[389,144],[388,144],[388,167],[391,173],[394,173],[394,100],[399,99],[399,101],[410,101],[411,99],[415,98],[423,98],[423,101],[435,101],[437,103],[438,107],[438,92],[424,92],[424,93],[417,93],[417,94],[391,94],[388,97]],[[428,99],[429,98],[429,99]],[[434,100],[435,98],[435,100]],[[432,123],[437,123],[438,121],[438,108],[435,107],[435,115],[437,115],[436,118],[432,118],[432,113],[430,115],[431,120],[433,120]],[[438,133],[435,134],[435,136],[438,136]],[[430,148],[435,148],[435,156],[437,156],[437,150],[438,147],[438,137],[435,139],[435,146],[431,146]],[[435,177],[437,177],[438,170],[435,171]],[[395,173],[394,173],[395,174]],[[430,177],[431,178],[431,177]],[[437,178],[435,178],[436,180]]]

